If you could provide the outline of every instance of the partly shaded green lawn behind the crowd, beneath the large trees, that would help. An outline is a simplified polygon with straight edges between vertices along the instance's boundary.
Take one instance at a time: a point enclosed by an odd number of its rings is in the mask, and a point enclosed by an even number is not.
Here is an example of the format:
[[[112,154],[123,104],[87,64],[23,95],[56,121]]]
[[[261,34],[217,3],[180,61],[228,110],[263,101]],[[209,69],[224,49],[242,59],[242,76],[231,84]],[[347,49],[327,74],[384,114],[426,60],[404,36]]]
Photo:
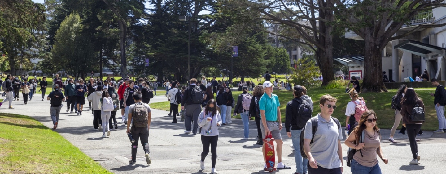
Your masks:
[[[389,92],[383,93],[366,93],[359,94],[359,96],[364,97],[367,103],[368,109],[372,109],[376,112],[378,116],[378,127],[383,129],[391,129],[394,122],[394,113],[395,111],[391,107],[392,96],[396,94],[396,89],[389,89]],[[430,93],[435,92],[435,88],[418,88],[416,89],[417,94],[423,99],[425,103],[425,112],[426,112],[426,122],[423,124],[423,130],[437,130],[438,129],[438,121],[437,121],[437,113],[434,107],[434,97],[430,96]],[[237,96],[240,94],[240,91],[234,91],[233,96],[234,99],[237,99]],[[285,123],[285,108],[286,103],[289,100],[293,99],[293,94],[291,91],[274,91],[279,97],[281,103],[281,115],[282,122]],[[334,112],[332,116],[338,118],[343,126],[345,126],[345,110],[347,107],[347,103],[350,102],[350,97],[345,93],[345,89],[321,89],[315,88],[311,89],[308,92],[308,95],[313,99],[315,103],[313,114],[316,115],[320,112],[320,109],[317,107],[319,103],[319,99],[322,95],[330,94],[338,99],[336,105],[338,108]],[[159,103],[151,103],[150,107],[155,109],[161,109],[165,111],[169,111],[169,102],[159,102]],[[237,118],[237,117],[236,117]],[[240,115],[238,115],[240,118]],[[401,125],[400,125],[401,127]]]

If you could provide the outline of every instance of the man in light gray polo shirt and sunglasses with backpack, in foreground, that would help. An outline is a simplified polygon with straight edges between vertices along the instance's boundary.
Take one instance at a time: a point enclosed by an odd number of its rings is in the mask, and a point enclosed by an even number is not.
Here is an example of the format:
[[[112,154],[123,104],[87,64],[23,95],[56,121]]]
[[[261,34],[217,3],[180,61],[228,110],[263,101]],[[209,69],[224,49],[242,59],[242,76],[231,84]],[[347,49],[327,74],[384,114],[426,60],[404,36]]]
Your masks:
[[[323,95],[319,101],[321,113],[318,118],[318,129],[313,133],[311,119],[306,123],[304,132],[304,150],[308,157],[308,174],[342,174],[342,129],[331,117],[336,109],[336,99],[331,95]],[[337,121],[339,122],[339,121]]]

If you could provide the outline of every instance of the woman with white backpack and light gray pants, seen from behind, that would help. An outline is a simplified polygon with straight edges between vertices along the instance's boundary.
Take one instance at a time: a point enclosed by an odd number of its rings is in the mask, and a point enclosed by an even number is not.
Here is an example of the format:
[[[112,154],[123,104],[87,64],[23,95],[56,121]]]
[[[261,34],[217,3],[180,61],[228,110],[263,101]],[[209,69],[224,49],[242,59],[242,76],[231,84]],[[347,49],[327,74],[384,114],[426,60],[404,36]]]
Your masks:
[[[108,90],[102,91],[101,98],[101,119],[102,119],[102,138],[110,136],[110,128],[109,128],[109,120],[111,118],[111,111],[114,109],[113,107],[113,99],[111,99],[108,94]],[[109,111],[111,110],[111,111]],[[105,130],[107,130],[107,136],[105,136]]]

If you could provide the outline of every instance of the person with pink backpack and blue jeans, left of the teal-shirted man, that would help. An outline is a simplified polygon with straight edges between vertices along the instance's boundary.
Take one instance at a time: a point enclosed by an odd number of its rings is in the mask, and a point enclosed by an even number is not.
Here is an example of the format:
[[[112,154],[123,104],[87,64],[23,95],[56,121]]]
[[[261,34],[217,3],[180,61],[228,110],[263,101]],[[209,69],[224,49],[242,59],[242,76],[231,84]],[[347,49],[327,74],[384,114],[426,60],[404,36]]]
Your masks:
[[[243,135],[244,140],[249,139],[249,120],[251,117],[249,114],[249,108],[252,100],[252,95],[248,93],[248,87],[243,87],[243,93],[237,97],[237,105],[235,105],[234,115],[240,114],[243,122]],[[250,100],[247,100],[250,99]],[[231,110],[229,110],[231,112]]]

